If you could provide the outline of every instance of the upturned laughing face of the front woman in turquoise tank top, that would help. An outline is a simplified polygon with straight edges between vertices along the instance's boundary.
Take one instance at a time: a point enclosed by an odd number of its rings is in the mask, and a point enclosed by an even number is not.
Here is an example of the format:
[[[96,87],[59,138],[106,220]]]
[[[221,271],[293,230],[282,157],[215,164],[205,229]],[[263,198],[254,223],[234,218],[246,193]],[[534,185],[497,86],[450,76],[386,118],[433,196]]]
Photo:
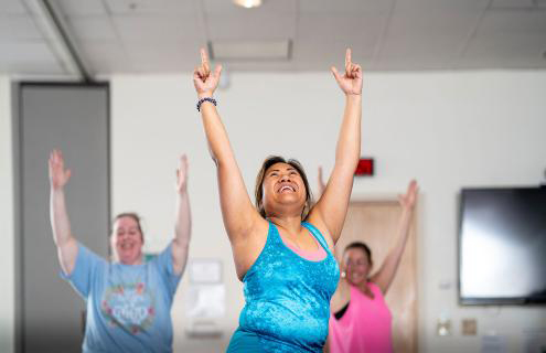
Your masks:
[[[306,184],[296,168],[288,163],[275,163],[266,170],[264,183],[264,210],[266,214],[301,215],[306,206]]]

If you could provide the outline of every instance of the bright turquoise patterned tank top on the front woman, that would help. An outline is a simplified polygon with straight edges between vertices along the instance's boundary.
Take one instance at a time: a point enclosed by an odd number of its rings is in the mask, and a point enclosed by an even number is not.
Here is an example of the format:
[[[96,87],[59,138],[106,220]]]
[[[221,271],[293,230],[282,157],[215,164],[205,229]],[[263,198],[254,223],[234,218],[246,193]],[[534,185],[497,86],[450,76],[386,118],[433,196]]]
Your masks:
[[[328,253],[324,259],[300,257],[269,223],[266,245],[243,279],[246,304],[235,335],[257,336],[264,352],[322,352],[328,336],[340,269],[319,229],[302,225]]]

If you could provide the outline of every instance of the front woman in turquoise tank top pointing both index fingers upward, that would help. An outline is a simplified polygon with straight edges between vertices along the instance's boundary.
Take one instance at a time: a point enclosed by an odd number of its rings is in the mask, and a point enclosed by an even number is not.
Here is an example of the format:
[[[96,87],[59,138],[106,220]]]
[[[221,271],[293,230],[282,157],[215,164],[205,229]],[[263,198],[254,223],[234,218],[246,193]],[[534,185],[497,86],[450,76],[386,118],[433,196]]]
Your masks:
[[[345,73],[332,73],[345,94],[345,111],[328,185],[313,204],[303,168],[270,157],[256,181],[253,205],[213,93],[222,66],[206,52],[193,82],[205,135],[217,168],[220,202],[246,304],[227,352],[322,352],[330,299],[339,280],[333,256],[345,220],[360,158],[362,69],[345,54]],[[295,93],[297,94],[297,93]],[[303,253],[322,252],[320,259]]]

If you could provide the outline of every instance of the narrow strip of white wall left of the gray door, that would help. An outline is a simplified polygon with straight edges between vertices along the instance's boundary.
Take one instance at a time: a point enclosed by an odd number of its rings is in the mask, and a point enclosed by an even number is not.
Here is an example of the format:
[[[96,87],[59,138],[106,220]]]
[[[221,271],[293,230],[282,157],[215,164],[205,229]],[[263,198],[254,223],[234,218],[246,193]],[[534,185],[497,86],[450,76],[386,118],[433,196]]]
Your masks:
[[[14,220],[12,168],[11,86],[0,76],[0,352],[14,347]]]

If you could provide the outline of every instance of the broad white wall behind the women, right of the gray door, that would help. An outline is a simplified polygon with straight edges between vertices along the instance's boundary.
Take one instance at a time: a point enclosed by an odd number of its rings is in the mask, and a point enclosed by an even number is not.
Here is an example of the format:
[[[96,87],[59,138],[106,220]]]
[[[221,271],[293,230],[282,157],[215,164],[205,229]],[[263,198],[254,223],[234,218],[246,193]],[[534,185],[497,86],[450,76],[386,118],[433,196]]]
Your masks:
[[[231,78],[232,87],[216,97],[249,192],[270,153],[300,159],[314,185],[317,167],[328,171],[333,164],[343,111],[344,99],[331,75],[240,73]],[[463,186],[540,181],[546,168],[546,72],[367,74],[363,97],[362,154],[376,159],[377,173],[356,180],[355,194],[403,191],[410,178],[422,190],[420,351],[475,352],[480,335],[490,331],[505,335],[510,351],[520,351],[523,331],[546,330],[545,309],[457,304],[457,194]],[[140,212],[148,250],[160,250],[173,233],[176,157],[189,154],[191,257],[223,260],[228,311],[220,323],[223,340],[188,340],[184,280],[173,309],[174,347],[208,352],[227,344],[243,296],[195,100],[189,75],[113,77],[111,190],[113,211]],[[453,321],[452,336],[436,335],[440,314]],[[478,336],[461,335],[462,318],[478,319]]]

